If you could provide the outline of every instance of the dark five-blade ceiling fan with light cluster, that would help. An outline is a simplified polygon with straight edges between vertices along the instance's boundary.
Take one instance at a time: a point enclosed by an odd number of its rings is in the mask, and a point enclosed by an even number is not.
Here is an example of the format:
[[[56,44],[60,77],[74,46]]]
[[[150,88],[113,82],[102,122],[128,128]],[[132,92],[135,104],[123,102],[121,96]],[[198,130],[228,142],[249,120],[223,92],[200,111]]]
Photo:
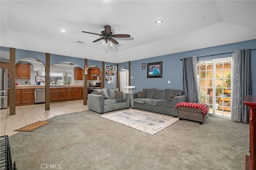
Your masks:
[[[100,36],[99,39],[94,40],[93,42],[98,42],[100,40],[103,40],[102,43],[105,46],[107,46],[107,45],[111,46],[112,43],[118,44],[118,42],[114,38],[128,38],[128,37],[130,37],[130,35],[128,35],[128,34],[112,34],[111,27],[108,26],[108,25],[104,26],[104,28],[105,28],[105,30],[102,31],[101,34],[96,34],[96,33],[92,33],[92,32],[85,32],[85,31],[82,31],[82,32]]]

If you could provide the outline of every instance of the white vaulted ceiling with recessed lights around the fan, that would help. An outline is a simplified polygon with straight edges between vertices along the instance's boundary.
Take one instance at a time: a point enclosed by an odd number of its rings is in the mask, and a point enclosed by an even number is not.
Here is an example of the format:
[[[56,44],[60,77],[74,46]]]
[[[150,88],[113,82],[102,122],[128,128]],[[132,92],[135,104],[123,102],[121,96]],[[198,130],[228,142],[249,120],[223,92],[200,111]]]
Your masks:
[[[113,63],[256,39],[255,0],[0,3],[1,46]],[[115,38],[106,53],[101,41],[92,43],[99,36],[82,33],[100,34],[105,25],[131,37]]]

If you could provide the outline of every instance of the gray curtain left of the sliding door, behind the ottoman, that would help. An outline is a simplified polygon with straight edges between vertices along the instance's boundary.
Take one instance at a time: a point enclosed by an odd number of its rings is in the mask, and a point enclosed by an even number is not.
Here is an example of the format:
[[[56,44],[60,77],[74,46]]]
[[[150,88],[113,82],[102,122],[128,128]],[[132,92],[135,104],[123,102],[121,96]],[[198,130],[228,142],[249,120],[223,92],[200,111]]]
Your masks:
[[[200,103],[195,56],[183,59],[183,93],[188,96],[188,102]]]

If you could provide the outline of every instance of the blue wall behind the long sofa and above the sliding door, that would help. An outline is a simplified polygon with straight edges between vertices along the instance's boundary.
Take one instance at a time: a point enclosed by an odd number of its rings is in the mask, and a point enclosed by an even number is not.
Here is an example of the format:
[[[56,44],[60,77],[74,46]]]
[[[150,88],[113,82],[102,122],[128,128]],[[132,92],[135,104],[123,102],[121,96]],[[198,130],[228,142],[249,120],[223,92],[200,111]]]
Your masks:
[[[246,49],[251,50],[251,86],[252,95],[256,95],[256,39],[231,43],[226,45],[220,45],[215,47],[209,47],[204,49],[197,49],[192,51],[186,51],[182,53],[174,53],[169,55],[162,55],[158,57],[151,57],[146,59],[140,59],[136,61],[131,61],[131,85],[136,87],[136,91],[142,91],[143,88],[158,88],[158,89],[183,89],[183,62],[180,61],[182,58],[187,58],[191,56],[197,56],[198,61],[206,59],[215,59],[222,57],[232,56],[232,51],[236,49]],[[222,54],[221,54],[222,53]],[[224,54],[223,54],[224,53]],[[147,78],[147,69],[142,69],[142,63],[152,63],[163,61],[163,73],[162,78]],[[126,65],[125,63],[120,63],[120,65]],[[170,80],[170,84],[168,84]]]

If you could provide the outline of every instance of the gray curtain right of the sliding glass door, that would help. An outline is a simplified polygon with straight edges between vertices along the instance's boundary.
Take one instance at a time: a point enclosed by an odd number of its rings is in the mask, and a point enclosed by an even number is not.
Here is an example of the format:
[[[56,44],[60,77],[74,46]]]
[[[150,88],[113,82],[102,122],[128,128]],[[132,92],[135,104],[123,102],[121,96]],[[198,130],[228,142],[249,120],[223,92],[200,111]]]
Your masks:
[[[233,52],[231,91],[231,120],[249,123],[249,108],[244,105],[244,96],[251,94],[250,49]]]

